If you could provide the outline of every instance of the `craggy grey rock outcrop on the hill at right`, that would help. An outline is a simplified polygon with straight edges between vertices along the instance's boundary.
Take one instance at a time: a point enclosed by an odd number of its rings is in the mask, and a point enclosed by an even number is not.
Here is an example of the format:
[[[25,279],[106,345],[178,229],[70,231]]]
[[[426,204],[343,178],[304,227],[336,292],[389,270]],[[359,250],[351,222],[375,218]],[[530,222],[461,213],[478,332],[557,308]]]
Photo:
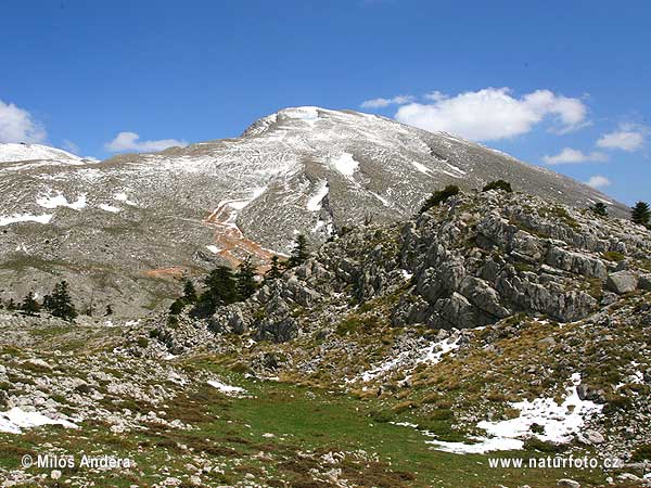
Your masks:
[[[607,290],[627,293],[643,282],[648,237],[626,220],[534,196],[462,193],[406,222],[331,240],[265,284],[238,320],[273,342],[340,322],[350,303],[372,309],[374,300],[392,304],[395,326],[472,329],[516,313],[573,322],[617,299]],[[604,259],[615,249],[626,249],[626,271]],[[216,317],[235,329],[224,312]]]

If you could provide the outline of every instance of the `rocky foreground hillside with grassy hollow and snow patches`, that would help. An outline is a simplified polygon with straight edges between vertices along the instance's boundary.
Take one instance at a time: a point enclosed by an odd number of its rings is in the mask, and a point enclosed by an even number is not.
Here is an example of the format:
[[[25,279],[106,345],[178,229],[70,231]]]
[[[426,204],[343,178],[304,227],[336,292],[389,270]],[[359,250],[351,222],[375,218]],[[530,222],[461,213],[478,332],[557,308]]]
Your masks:
[[[137,463],[0,457],[0,479],[648,487],[650,237],[556,200],[463,191],[347,229],[205,319],[191,304],[75,323],[0,309],[0,450]]]

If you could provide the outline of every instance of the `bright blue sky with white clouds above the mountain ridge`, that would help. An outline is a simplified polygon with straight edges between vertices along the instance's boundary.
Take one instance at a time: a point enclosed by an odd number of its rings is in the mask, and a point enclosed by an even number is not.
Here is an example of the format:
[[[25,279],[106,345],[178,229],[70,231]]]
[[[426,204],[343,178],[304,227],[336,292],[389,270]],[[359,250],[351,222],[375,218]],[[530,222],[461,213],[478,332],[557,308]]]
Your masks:
[[[648,1],[5,0],[0,12],[1,142],[103,158],[319,105],[457,132],[651,201]]]

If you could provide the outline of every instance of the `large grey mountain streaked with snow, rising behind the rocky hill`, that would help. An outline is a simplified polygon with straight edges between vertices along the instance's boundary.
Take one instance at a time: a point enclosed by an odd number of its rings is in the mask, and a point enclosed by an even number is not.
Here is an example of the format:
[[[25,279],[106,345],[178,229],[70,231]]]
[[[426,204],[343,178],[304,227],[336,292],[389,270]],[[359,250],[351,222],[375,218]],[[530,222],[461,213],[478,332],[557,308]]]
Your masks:
[[[72,159],[68,159],[72,160]],[[4,298],[68,279],[78,301],[123,314],[157,307],[174,279],[217,261],[312,246],[363,221],[413,215],[446,184],[515,191],[610,214],[626,207],[570,178],[445,133],[318,107],[282,110],[237,139],[102,163],[0,165]]]

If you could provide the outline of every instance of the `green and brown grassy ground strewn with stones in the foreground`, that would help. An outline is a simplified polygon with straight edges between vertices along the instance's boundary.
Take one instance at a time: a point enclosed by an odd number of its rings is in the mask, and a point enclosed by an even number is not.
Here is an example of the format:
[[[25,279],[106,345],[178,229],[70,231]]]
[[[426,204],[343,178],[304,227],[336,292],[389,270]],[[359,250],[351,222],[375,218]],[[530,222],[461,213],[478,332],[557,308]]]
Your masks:
[[[188,486],[188,475],[192,473],[186,466],[195,464],[196,458],[219,466],[202,475],[205,486],[232,485],[251,474],[264,486],[327,487],[331,485],[314,480],[310,470],[323,473],[330,467],[341,468],[342,477],[352,484],[387,488],[478,488],[498,486],[505,480],[508,486],[528,484],[546,488],[556,486],[561,477],[572,477],[584,486],[603,483],[604,475],[598,471],[489,468],[489,457],[528,458],[547,453],[446,453],[433,450],[426,444],[431,437],[422,432],[392,423],[407,421],[441,439],[464,440],[464,434],[452,426],[451,404],[438,397],[429,398],[425,404],[430,410],[424,411],[416,408],[421,402],[373,396],[360,399],[341,390],[245,378],[219,365],[218,360],[219,357],[204,357],[180,367],[188,372],[217,373],[225,382],[245,388],[250,397],[227,397],[207,384],[194,383],[153,409],[164,411],[163,418],[191,424],[194,428],[190,431],[150,423],[148,431],[113,434],[108,425],[88,420],[79,431],[49,426],[17,436],[0,434],[0,467],[16,468],[23,454],[35,455],[50,442],[62,453],[77,458],[81,453],[111,453],[138,463],[138,468],[130,473],[62,470],[61,481],[86,476],[97,486],[151,486],[167,476],[178,477]],[[102,406],[115,412],[125,408],[141,413],[152,410],[148,403],[125,399],[118,402],[106,399]],[[330,452],[343,452],[344,459],[331,466],[322,460]],[[162,474],[163,467],[169,470],[168,474]],[[33,467],[28,473],[49,471]],[[54,483],[43,481],[43,486]]]

